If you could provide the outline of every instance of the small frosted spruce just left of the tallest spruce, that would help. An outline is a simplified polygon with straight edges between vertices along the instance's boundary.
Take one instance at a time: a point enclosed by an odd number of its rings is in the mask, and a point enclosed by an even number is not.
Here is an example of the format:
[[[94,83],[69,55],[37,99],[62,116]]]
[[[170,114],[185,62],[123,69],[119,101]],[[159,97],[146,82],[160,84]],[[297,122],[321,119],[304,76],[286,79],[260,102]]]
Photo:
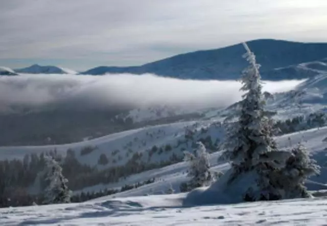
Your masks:
[[[208,153],[204,145],[201,142],[197,142],[195,154],[184,152],[184,155],[184,161],[190,163],[188,176],[192,177],[190,182],[187,183],[187,190],[190,191],[194,188],[209,185],[213,177],[209,171]]]

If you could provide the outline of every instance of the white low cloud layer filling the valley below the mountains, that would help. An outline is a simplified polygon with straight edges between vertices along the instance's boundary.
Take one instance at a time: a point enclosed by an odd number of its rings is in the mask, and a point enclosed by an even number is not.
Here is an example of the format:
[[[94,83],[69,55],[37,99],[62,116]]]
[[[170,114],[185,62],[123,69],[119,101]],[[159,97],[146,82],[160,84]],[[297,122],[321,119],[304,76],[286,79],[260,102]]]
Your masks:
[[[299,81],[264,82],[264,91],[283,92]],[[223,107],[241,99],[240,82],[197,81],[145,75],[26,75],[0,77],[0,110],[12,106],[107,108],[159,104]]]

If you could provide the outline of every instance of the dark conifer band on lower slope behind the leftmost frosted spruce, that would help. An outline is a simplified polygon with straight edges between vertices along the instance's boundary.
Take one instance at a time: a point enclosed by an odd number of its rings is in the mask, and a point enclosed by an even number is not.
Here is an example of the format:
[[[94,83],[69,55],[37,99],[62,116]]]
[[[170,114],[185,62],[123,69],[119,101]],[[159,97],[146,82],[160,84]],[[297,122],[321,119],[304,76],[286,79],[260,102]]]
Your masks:
[[[170,149],[169,146],[167,149]],[[62,174],[68,179],[67,186],[73,191],[98,184],[116,183],[121,178],[126,178],[132,174],[165,167],[182,160],[181,157],[173,154],[167,161],[146,163],[141,160],[142,153],[136,152],[126,164],[122,166],[108,166],[100,170],[96,166],[91,167],[81,164],[75,154],[75,151],[68,149],[66,156],[62,157],[56,150],[53,150],[48,153],[27,154],[23,160],[0,161],[1,205],[21,206],[31,204],[31,201],[41,203],[42,196],[39,194],[40,191],[46,188],[45,178],[41,174],[46,166],[46,155],[52,156],[60,163]],[[32,194],[36,194],[35,197]],[[72,199],[74,200],[74,196]]]

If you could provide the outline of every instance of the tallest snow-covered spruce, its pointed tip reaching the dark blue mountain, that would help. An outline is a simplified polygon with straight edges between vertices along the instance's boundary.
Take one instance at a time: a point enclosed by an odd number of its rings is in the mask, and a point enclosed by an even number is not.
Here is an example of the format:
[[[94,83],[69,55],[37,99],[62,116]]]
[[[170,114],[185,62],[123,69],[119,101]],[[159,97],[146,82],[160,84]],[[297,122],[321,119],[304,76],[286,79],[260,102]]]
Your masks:
[[[222,158],[231,162],[231,173],[227,184],[232,184],[242,177],[253,177],[255,183],[249,183],[242,189],[244,200],[281,199],[280,189],[272,183],[272,173],[284,166],[285,159],[291,154],[278,151],[272,138],[271,120],[265,115],[259,73],[260,65],[246,43],[243,56],[249,66],[242,72],[241,91],[246,92],[241,101],[241,112],[236,123],[227,130]]]

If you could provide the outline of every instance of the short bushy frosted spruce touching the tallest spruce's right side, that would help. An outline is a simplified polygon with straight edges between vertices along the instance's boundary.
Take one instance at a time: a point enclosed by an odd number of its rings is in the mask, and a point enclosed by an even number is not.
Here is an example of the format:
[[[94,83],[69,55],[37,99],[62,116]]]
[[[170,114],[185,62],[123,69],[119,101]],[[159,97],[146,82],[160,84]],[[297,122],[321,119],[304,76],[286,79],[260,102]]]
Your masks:
[[[305,180],[310,176],[320,173],[320,166],[310,158],[306,147],[298,144],[292,148],[292,155],[286,160],[285,167],[275,172],[274,182],[276,187],[282,188],[283,198],[306,198],[310,197]]]

